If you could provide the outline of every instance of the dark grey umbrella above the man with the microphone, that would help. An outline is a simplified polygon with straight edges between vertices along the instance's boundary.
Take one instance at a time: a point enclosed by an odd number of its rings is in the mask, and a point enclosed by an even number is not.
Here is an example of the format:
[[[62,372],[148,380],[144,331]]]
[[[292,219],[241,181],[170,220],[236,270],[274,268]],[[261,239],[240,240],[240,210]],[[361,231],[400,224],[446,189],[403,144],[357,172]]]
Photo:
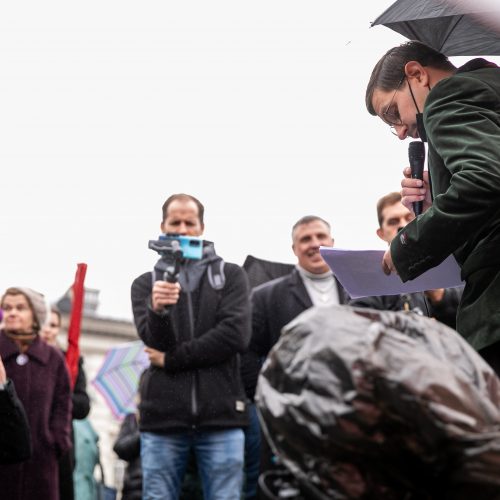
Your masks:
[[[372,23],[447,56],[500,55],[500,2],[397,0]]]

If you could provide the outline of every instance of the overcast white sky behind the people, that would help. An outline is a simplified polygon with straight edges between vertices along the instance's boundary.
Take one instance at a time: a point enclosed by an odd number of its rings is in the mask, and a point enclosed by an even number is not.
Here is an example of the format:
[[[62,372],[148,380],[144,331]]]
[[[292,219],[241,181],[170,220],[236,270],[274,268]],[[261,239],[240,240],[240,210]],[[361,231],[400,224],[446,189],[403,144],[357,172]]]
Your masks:
[[[344,6],[341,6],[342,3]],[[200,198],[227,261],[294,262],[301,216],[383,248],[375,203],[407,143],[368,115],[370,28],[392,0],[3,2],[0,288],[51,301],[88,264],[103,316],[130,319],[161,205]]]

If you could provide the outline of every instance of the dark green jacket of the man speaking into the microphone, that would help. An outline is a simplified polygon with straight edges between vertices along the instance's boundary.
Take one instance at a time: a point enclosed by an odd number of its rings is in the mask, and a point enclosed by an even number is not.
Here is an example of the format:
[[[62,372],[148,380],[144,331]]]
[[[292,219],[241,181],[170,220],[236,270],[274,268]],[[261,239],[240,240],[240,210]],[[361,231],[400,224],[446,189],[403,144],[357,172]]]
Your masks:
[[[411,280],[453,253],[466,287],[457,330],[476,349],[500,341],[500,69],[470,61],[424,109],[432,206],[391,243]]]

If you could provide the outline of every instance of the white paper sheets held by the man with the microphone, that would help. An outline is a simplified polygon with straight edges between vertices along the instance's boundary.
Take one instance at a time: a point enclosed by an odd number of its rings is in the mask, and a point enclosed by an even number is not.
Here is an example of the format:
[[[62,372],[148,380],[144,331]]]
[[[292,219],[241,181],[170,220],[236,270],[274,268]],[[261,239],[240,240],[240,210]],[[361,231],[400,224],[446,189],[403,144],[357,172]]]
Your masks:
[[[460,279],[460,267],[453,255],[418,278],[403,283],[397,274],[387,276],[382,271],[384,250],[340,250],[321,247],[320,253],[353,299],[454,288],[464,284]]]

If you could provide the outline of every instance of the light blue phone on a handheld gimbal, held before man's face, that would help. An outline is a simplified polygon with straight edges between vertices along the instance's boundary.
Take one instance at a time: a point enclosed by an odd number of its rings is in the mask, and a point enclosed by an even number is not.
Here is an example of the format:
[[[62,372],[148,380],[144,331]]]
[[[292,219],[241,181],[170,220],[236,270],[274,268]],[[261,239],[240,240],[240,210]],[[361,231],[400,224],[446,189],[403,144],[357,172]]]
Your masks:
[[[176,283],[181,259],[201,259],[203,240],[194,236],[167,233],[160,235],[157,240],[149,240],[148,248],[161,255],[154,267],[154,281]]]

